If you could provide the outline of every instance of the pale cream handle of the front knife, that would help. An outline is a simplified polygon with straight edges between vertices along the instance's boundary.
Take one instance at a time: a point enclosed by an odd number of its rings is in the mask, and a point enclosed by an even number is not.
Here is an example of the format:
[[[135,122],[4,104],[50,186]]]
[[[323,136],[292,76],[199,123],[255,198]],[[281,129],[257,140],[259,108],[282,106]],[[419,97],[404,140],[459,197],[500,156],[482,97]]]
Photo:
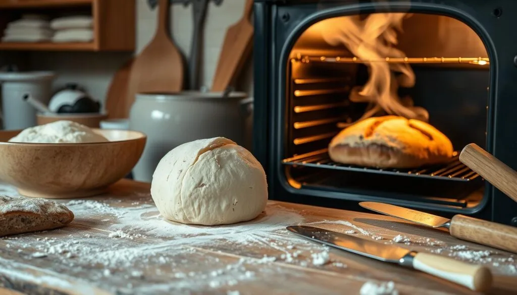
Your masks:
[[[492,285],[492,273],[488,268],[445,256],[417,253],[413,258],[413,267],[474,291],[487,290]]]

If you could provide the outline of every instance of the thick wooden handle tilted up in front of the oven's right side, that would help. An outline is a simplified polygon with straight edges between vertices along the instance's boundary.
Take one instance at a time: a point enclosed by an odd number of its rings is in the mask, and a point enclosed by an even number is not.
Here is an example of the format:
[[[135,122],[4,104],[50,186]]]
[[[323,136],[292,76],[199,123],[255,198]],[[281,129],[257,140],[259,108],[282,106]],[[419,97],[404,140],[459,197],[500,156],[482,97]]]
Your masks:
[[[517,202],[517,172],[480,148],[468,144],[460,153],[460,161]]]

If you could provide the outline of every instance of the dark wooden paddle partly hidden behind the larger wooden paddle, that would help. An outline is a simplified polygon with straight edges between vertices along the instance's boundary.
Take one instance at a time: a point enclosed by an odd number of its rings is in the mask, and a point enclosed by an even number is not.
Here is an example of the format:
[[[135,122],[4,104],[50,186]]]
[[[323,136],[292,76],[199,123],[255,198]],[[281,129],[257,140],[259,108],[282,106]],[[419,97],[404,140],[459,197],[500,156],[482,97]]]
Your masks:
[[[128,86],[129,75],[133,67],[134,58],[129,59],[121,66],[111,80],[108,94],[106,95],[106,110],[108,118],[120,119],[127,118],[131,105],[128,105]]]

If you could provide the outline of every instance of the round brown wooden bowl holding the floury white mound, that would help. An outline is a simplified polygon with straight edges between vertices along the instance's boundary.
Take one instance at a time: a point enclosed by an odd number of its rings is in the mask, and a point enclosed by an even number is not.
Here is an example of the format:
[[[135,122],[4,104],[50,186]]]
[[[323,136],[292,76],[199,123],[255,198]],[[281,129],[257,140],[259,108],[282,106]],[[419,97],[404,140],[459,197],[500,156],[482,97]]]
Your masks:
[[[21,130],[0,131],[0,180],[28,197],[74,198],[105,192],[131,172],[147,137],[136,131],[94,131],[110,142],[10,143]]]

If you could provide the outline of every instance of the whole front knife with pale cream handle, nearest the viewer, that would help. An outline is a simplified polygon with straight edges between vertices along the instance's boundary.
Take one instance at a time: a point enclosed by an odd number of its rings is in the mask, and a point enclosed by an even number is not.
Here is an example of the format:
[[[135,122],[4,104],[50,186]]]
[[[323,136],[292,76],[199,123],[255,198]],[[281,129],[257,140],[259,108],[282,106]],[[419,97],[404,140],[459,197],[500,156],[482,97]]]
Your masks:
[[[296,225],[288,226],[287,229],[315,242],[373,259],[398,263],[474,291],[486,290],[492,285],[492,273],[484,266],[472,265],[441,255],[410,251],[396,245],[386,245],[312,226]]]

